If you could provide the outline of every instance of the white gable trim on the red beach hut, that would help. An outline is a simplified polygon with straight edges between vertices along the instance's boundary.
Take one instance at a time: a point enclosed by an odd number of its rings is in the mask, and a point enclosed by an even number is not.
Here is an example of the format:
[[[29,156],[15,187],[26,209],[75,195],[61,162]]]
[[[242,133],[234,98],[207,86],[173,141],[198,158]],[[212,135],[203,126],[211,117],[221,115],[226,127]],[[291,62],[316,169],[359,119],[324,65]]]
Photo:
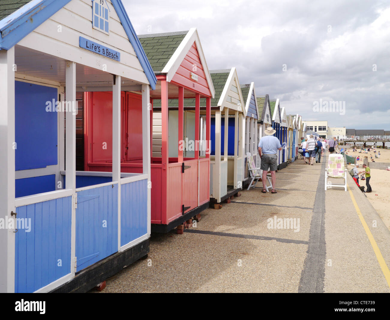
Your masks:
[[[197,46],[197,50],[199,53],[199,59],[202,63],[202,68],[204,71],[204,74],[206,76],[207,84],[209,85],[209,89],[211,92],[211,97],[214,98],[215,90],[213,81],[211,80],[209,68],[207,67],[206,59],[204,57],[202,44],[200,44],[200,39],[198,35],[197,28],[191,28],[186,36],[184,37],[183,41],[179,44],[176,51],[172,55],[172,57],[169,59],[167,64],[165,65],[164,69],[161,71],[161,73],[167,74],[167,81],[170,82],[174,75],[176,74],[177,69],[179,69],[179,66],[181,65],[181,62],[183,62],[184,57],[187,55],[188,51],[190,51],[192,44],[195,42]]]

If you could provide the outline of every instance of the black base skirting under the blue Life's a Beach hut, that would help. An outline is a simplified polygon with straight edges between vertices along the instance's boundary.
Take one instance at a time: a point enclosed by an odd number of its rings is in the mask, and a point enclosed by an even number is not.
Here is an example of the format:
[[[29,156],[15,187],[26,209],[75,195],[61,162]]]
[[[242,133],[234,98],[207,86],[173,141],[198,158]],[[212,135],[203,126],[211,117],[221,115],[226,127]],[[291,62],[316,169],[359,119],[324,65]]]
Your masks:
[[[55,288],[51,292],[87,292],[107,278],[121,271],[124,267],[146,256],[149,252],[149,239],[125,250],[116,252],[107,258],[96,262],[94,265],[76,273],[76,276]]]

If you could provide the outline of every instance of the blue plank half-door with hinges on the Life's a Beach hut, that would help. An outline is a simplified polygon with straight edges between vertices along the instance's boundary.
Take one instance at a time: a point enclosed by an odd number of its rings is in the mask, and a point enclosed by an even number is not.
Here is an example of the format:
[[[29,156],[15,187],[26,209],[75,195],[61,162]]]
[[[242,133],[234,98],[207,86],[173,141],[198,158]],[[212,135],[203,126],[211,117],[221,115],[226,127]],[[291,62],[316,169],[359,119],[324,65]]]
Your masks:
[[[76,271],[118,251],[118,185],[77,192]]]

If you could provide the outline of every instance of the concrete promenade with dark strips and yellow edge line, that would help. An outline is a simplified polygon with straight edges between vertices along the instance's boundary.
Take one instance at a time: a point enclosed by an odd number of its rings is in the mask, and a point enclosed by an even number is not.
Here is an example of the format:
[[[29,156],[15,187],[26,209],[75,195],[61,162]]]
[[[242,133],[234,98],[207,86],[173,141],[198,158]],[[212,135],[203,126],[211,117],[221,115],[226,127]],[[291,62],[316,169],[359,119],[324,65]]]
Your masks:
[[[324,190],[322,160],[278,171],[278,194],[259,182],[183,235],[153,234],[103,292],[390,292],[389,230],[351,176]]]

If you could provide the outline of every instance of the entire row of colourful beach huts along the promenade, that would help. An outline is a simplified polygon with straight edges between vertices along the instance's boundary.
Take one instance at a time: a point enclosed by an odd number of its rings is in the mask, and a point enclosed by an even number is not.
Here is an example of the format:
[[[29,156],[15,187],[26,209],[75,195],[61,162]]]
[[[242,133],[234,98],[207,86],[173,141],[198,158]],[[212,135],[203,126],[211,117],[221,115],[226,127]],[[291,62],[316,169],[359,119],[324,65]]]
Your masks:
[[[152,232],[253,185],[268,126],[278,169],[297,158],[301,117],[209,70],[196,28],[137,36],[121,0],[10,0],[0,32],[0,292],[85,292],[147,256]]]

